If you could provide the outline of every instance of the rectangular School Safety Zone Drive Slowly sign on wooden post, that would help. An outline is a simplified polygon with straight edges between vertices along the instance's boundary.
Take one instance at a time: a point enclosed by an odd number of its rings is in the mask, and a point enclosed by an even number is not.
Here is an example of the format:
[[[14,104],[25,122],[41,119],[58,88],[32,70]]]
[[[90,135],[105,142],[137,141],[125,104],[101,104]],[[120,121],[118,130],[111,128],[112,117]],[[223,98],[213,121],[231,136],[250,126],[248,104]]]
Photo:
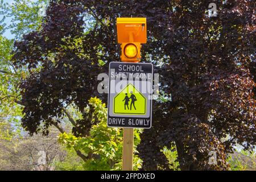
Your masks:
[[[152,80],[151,63],[109,64],[109,127],[151,128]]]

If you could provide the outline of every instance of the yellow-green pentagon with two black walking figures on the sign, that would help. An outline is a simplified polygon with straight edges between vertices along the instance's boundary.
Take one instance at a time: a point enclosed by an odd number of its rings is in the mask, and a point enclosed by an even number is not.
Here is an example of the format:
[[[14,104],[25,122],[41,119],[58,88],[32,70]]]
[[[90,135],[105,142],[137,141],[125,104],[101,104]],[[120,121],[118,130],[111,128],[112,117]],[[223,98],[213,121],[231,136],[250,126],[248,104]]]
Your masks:
[[[134,85],[128,84],[114,97],[115,114],[146,114],[146,98]]]

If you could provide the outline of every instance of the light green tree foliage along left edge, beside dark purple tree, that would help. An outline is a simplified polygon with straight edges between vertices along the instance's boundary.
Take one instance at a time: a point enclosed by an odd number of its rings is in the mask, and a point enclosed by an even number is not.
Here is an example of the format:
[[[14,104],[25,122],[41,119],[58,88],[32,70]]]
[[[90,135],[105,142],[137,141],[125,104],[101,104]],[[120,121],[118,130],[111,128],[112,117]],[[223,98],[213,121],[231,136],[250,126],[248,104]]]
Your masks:
[[[20,39],[27,32],[38,30],[43,15],[39,10],[47,0],[15,0],[13,3],[0,2],[0,135],[10,138],[18,134],[19,121],[23,116],[19,85],[28,76],[26,67],[16,68],[11,61],[14,40],[2,35],[4,30],[11,30],[15,39]],[[6,22],[6,20],[9,22]],[[11,126],[11,127],[10,127]],[[18,126],[18,127],[16,127]],[[10,127],[10,129],[9,129]],[[14,129],[12,129],[14,127]],[[2,130],[3,129],[3,130]],[[2,137],[3,138],[3,137]]]

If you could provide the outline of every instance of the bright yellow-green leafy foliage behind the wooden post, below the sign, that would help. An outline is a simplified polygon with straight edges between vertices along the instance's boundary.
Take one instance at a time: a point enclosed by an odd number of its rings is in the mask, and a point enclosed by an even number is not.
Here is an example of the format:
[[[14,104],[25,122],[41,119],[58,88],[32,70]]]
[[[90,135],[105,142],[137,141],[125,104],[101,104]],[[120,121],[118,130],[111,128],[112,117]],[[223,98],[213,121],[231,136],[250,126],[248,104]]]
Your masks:
[[[108,127],[106,124],[106,106],[97,97],[90,98],[89,106],[97,115],[96,125],[92,126],[88,137],[75,137],[72,134],[60,134],[59,141],[67,148],[81,150],[85,155],[93,155],[83,164],[86,170],[120,170],[122,163],[122,129]],[[142,130],[134,131],[134,154],[140,142]],[[134,169],[141,168],[142,160],[134,155]]]

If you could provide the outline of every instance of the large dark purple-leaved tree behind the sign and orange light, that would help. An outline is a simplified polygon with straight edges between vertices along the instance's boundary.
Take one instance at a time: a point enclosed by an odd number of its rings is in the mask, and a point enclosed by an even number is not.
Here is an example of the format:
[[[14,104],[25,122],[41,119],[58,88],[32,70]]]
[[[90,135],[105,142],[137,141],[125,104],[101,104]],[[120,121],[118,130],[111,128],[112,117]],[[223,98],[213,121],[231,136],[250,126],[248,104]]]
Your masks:
[[[115,19],[146,17],[142,61],[155,65],[171,101],[154,102],[153,127],[138,146],[143,169],[170,169],[161,150],[174,145],[181,169],[228,169],[235,144],[256,142],[255,2],[214,2],[218,15],[209,18],[209,1],[50,1],[40,28],[14,44],[15,67],[29,72],[20,85],[23,127],[48,134],[72,103],[82,113],[73,134],[90,136],[101,119],[85,111],[88,100],[106,102],[97,75],[119,61]]]

